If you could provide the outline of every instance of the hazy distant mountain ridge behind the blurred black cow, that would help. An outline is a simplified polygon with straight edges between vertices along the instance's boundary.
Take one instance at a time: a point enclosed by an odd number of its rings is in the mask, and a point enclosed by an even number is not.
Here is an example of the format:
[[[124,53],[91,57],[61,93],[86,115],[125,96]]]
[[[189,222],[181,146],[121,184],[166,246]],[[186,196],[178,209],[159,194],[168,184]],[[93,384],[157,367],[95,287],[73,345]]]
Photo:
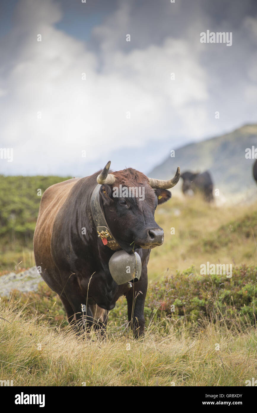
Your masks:
[[[181,172],[203,172],[208,169],[215,188],[224,194],[253,192],[257,188],[252,177],[254,159],[245,159],[245,149],[252,145],[257,148],[257,124],[245,125],[231,133],[183,146],[175,150],[175,157],[165,159],[148,176],[167,179],[177,166],[180,166]]]

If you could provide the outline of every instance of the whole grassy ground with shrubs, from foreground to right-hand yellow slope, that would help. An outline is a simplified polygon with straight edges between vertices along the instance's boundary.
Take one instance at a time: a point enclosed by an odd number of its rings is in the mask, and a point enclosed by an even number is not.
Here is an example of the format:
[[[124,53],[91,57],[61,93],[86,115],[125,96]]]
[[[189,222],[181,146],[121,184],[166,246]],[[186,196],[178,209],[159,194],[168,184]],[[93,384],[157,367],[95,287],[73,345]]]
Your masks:
[[[165,241],[152,250],[148,264],[145,337],[135,340],[129,332],[123,298],[110,312],[106,339],[93,332],[85,340],[74,337],[60,299],[42,282],[37,292],[1,298],[2,380],[42,386],[245,386],[257,377],[257,204],[217,207],[174,196],[157,209],[156,221]],[[33,265],[29,242],[23,252],[5,244],[2,272],[18,260],[20,267]],[[232,277],[201,275],[207,261],[231,263]]]

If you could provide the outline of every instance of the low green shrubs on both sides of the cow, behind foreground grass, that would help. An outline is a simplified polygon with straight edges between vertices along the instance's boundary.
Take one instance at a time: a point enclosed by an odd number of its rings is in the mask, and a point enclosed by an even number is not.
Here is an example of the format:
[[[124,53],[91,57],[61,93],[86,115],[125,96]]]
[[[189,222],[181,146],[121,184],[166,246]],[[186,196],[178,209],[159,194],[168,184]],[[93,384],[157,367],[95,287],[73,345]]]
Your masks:
[[[203,318],[224,318],[227,325],[241,318],[245,323],[255,324],[257,308],[257,268],[242,266],[234,268],[231,278],[224,275],[197,275],[194,268],[183,273],[166,275],[148,285],[145,300],[147,325],[152,319],[159,322],[166,317],[179,320],[186,317],[201,325]],[[41,315],[51,325],[67,325],[66,315],[58,294],[42,282],[37,292],[21,294],[14,291],[12,300],[19,301],[28,315]],[[7,297],[2,297],[8,302]],[[174,305],[174,311],[171,306]],[[109,319],[117,325],[127,322],[127,305],[121,297],[110,311]]]

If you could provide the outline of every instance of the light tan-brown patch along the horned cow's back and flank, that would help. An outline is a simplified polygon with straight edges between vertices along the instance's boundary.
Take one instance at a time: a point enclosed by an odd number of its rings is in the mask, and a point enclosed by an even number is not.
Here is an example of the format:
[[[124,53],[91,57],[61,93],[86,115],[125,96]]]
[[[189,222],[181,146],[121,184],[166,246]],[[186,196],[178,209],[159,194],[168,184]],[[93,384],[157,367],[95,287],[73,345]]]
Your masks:
[[[42,195],[33,238],[35,262],[42,268],[42,276],[46,267],[48,272],[54,271],[54,262],[51,257],[51,234],[54,220],[73,185],[79,179],[73,178],[51,185]]]

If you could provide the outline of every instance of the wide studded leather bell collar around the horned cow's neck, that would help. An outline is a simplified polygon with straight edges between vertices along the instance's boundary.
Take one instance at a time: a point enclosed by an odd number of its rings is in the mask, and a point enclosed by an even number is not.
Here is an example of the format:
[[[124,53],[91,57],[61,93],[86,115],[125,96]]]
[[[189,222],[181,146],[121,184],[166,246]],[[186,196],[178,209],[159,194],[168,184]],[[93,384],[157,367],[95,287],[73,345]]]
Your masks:
[[[96,225],[98,237],[101,238],[104,245],[107,245],[107,247],[116,251],[117,249],[121,249],[121,247],[112,235],[100,205],[99,190],[101,186],[101,184],[97,184],[96,188],[93,190],[91,196],[91,213]]]

